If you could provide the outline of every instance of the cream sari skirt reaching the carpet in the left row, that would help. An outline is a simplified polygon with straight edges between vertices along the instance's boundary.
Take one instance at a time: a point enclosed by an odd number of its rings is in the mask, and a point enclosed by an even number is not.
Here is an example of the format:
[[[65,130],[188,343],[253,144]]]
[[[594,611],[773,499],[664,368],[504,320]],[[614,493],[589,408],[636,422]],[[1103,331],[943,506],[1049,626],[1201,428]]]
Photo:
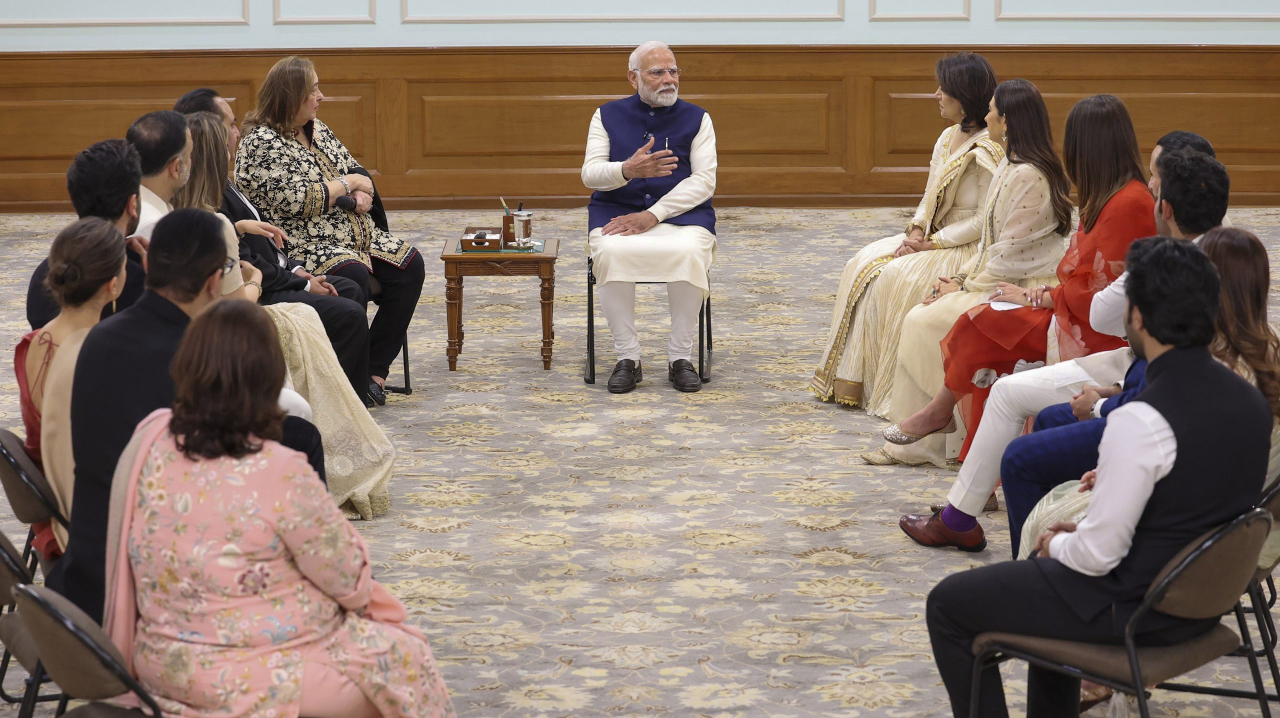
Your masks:
[[[351,388],[320,315],[298,302],[262,308],[280,335],[293,390],[311,403],[312,422],[324,439],[329,494],[348,518],[387,513],[396,448]]]

